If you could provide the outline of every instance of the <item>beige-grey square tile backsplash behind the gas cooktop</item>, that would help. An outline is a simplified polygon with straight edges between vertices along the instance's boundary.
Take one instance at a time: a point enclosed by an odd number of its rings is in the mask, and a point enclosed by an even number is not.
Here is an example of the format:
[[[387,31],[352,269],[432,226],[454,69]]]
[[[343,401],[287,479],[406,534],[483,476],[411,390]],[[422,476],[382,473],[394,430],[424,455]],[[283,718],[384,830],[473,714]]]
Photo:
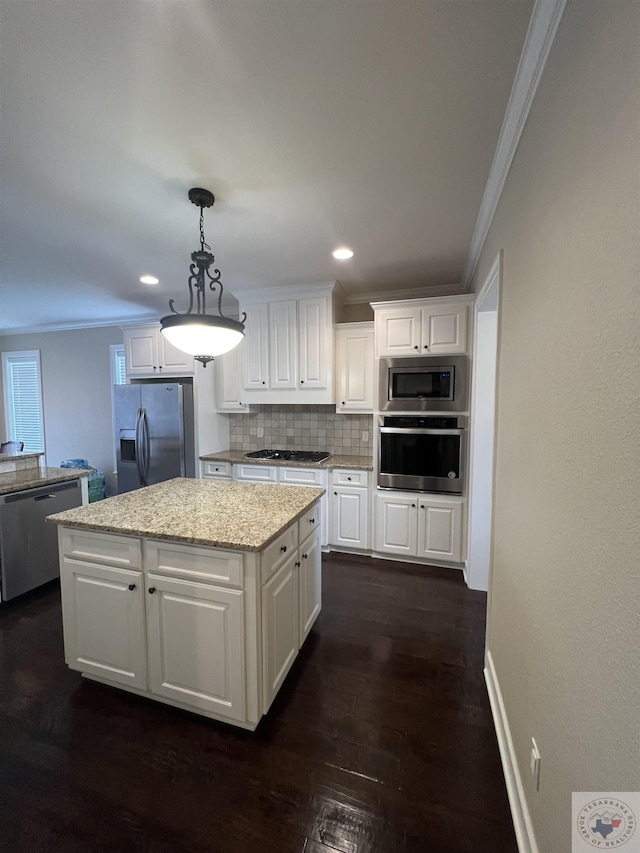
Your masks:
[[[264,430],[260,438],[258,430]],[[245,452],[270,447],[371,456],[373,415],[339,415],[334,406],[260,406],[252,414],[229,415],[229,439],[231,450]]]

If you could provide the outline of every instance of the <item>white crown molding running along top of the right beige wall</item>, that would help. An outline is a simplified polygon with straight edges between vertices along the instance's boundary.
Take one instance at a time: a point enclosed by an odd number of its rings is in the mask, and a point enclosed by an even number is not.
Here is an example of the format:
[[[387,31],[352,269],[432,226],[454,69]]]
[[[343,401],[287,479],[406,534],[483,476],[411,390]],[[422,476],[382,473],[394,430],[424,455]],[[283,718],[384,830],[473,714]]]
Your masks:
[[[565,3],[566,0],[536,0],[533,7],[462,275],[464,291],[471,286]]]

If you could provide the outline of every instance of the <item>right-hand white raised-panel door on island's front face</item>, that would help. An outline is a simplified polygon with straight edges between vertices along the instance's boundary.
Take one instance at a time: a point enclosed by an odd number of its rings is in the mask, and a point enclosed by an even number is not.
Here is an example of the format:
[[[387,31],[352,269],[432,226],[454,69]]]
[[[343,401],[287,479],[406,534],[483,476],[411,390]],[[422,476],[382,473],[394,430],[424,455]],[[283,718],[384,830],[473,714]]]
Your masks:
[[[243,591],[149,573],[145,596],[151,692],[243,721]]]

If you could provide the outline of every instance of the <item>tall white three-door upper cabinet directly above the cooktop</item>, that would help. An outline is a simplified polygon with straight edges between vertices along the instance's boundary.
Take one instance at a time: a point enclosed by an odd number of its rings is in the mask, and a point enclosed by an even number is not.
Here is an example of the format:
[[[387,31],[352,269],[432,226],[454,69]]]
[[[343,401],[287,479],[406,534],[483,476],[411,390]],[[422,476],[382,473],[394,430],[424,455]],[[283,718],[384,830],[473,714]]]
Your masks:
[[[335,287],[329,282],[238,294],[247,313],[243,402],[334,402]]]

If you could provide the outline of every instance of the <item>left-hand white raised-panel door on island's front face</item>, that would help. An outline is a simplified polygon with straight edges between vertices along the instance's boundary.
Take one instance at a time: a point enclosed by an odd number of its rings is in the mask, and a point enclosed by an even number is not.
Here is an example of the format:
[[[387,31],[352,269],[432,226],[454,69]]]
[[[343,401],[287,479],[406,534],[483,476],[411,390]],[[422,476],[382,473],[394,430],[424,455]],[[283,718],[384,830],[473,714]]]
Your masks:
[[[71,669],[145,689],[142,573],[64,558],[61,588]]]

